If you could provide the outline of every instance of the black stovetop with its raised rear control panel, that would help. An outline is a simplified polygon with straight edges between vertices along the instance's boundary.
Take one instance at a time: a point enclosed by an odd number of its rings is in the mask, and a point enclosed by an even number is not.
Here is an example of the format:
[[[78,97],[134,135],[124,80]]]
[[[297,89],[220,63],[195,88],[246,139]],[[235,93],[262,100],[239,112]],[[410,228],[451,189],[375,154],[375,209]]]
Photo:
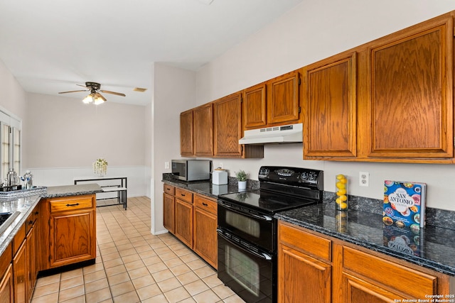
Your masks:
[[[322,201],[323,171],[301,167],[262,166],[260,189],[223,194],[218,199],[267,214]]]

